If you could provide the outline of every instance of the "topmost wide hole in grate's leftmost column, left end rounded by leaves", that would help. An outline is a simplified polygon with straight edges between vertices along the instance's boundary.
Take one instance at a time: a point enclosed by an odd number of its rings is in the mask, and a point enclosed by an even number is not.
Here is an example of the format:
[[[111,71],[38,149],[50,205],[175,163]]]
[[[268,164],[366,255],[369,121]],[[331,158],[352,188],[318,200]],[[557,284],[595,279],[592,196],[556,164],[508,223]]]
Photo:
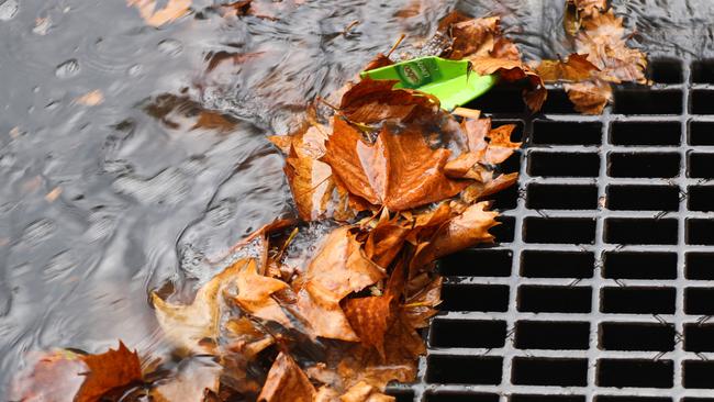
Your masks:
[[[507,277],[512,261],[510,249],[471,248],[442,258],[438,268],[445,277]]]

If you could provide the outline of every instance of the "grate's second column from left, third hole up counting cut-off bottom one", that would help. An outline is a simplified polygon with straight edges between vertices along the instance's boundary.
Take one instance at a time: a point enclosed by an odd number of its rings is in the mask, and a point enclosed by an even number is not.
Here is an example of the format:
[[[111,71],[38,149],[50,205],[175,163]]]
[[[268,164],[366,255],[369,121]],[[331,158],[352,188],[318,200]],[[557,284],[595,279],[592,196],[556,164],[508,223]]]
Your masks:
[[[589,337],[588,322],[518,321],[515,324],[518,349],[587,350]]]

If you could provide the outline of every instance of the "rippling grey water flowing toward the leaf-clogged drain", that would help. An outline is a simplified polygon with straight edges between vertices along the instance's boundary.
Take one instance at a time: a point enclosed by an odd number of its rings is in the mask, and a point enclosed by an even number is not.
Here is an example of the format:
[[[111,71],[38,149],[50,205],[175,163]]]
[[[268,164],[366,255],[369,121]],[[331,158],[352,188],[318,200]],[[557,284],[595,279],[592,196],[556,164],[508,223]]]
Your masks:
[[[30,350],[164,353],[148,292],[210,278],[293,214],[266,136],[401,33],[458,7],[502,15],[526,58],[567,53],[560,0],[308,0],[277,21],[211,5],[155,29],[122,0],[0,0],[0,389]],[[615,5],[650,52],[712,54],[714,2]],[[101,104],[77,101],[91,91]]]

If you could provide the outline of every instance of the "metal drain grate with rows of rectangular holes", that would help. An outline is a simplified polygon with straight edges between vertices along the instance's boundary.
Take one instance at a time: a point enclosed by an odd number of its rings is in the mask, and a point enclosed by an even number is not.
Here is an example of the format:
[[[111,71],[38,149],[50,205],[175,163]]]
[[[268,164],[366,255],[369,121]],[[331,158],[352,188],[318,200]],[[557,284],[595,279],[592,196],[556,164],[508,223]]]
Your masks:
[[[517,89],[500,244],[444,259],[443,312],[399,401],[714,402],[714,62],[651,63],[602,116]],[[481,108],[481,105],[483,105]]]

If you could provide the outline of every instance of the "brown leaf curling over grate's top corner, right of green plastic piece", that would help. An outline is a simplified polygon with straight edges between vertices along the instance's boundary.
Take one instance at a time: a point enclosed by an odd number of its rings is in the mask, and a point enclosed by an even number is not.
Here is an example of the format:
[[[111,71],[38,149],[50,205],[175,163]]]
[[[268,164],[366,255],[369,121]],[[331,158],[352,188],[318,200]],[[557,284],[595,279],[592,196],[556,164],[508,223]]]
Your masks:
[[[523,98],[532,111],[538,111],[543,107],[548,91],[543,79],[531,67],[520,60],[510,58],[493,57],[469,57],[471,68],[478,75],[498,74],[506,82],[515,82],[527,79],[528,88],[524,89]]]

